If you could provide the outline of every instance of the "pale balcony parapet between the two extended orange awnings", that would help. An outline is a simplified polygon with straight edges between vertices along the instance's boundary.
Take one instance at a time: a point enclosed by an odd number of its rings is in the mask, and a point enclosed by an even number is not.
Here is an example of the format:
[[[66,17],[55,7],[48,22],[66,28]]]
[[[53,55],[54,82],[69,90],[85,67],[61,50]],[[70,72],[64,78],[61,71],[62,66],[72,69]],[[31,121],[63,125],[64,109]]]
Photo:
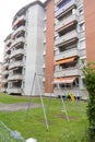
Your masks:
[[[78,67],[55,71],[55,78],[73,76],[73,75],[80,75],[80,74],[81,74],[81,71]]]

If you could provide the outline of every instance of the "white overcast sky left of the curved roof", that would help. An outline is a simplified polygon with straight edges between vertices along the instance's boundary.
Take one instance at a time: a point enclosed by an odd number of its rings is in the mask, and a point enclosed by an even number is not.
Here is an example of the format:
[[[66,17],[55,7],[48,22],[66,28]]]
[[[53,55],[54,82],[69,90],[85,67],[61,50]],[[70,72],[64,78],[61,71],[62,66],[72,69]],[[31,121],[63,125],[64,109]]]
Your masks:
[[[2,0],[0,3],[0,62],[3,61],[5,37],[12,32],[12,20],[15,13],[34,0]],[[44,2],[45,0],[40,0]]]

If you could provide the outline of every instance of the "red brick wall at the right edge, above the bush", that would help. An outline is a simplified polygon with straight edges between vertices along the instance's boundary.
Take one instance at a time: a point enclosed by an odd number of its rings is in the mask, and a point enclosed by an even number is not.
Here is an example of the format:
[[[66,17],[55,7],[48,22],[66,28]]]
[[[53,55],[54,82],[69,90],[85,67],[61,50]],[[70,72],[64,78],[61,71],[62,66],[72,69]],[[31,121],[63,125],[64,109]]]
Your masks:
[[[84,0],[87,61],[95,60],[95,0]]]

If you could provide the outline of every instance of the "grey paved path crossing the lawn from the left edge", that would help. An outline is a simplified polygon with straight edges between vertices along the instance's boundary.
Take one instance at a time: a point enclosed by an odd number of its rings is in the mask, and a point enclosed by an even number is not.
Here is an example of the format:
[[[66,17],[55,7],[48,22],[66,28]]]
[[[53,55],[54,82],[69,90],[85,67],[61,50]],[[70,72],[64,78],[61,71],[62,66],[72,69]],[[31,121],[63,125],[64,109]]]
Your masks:
[[[29,105],[29,108],[37,108],[41,105],[38,104],[32,104]],[[16,104],[2,104],[0,103],[0,110],[3,111],[16,111],[16,110],[23,110],[28,108],[28,103],[16,103]]]

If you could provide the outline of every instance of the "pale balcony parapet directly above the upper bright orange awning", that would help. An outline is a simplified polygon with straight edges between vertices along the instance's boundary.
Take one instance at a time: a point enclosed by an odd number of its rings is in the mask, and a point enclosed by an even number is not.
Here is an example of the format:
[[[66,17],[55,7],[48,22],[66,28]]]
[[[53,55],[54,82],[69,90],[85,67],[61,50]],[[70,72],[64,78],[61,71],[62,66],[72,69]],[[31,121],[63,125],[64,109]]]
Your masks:
[[[72,48],[66,51],[62,51],[55,56],[55,60],[61,60],[69,57],[80,56],[80,51],[76,48]]]

